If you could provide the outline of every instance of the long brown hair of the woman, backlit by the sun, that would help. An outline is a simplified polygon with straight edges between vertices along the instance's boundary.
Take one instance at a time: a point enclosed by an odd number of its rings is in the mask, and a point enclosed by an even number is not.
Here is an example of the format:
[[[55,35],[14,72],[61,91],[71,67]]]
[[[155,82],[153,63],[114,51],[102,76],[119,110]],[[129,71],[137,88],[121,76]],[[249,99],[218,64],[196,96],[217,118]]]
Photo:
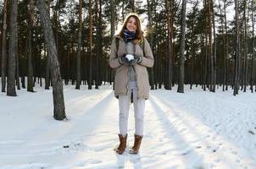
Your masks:
[[[129,21],[129,19],[133,17],[136,19],[136,40],[134,41],[135,43],[142,43],[143,41],[143,31],[142,31],[142,26],[141,26],[141,20],[139,19],[138,15],[137,14],[134,14],[134,13],[131,13],[131,14],[128,14],[125,18],[125,22],[124,24],[122,25],[122,29],[120,30],[119,34],[120,37],[122,37],[124,39],[124,31],[126,29],[126,25]]]

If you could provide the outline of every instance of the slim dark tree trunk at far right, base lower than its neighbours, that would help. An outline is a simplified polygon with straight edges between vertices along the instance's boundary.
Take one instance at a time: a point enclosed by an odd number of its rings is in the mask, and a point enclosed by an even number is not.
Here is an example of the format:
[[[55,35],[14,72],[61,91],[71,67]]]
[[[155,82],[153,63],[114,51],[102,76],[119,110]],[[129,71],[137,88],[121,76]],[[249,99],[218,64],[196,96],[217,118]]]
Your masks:
[[[240,60],[240,51],[239,51],[239,18],[238,18],[238,4],[239,0],[235,0],[235,11],[236,11],[236,55],[235,55],[235,74],[234,74],[234,92],[233,95],[238,94],[239,88],[239,60]]]

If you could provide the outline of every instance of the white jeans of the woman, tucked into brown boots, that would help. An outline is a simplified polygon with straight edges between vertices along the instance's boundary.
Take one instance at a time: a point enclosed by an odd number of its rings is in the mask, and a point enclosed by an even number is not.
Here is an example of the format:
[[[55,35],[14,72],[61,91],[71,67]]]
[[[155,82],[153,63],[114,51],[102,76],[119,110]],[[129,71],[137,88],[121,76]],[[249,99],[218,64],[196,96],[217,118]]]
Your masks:
[[[135,118],[135,134],[143,135],[144,129],[144,111],[145,111],[145,100],[138,99],[138,89],[136,82],[130,82],[128,85],[128,94],[119,95],[119,106],[120,106],[120,134],[127,134],[128,128],[128,117],[129,108],[131,103],[131,93],[133,93],[133,106],[134,106],[134,118]]]

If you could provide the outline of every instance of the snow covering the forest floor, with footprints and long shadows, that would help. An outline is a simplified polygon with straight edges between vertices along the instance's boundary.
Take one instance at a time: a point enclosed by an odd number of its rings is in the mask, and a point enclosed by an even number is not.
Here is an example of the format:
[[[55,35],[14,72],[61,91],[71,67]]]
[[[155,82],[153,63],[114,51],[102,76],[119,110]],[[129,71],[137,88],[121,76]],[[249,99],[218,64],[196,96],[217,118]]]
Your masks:
[[[52,90],[0,94],[1,169],[256,168],[256,95],[151,90],[139,155],[117,155],[118,100],[100,90],[64,86],[67,121],[53,119]],[[133,143],[131,106],[128,146]],[[128,150],[128,148],[127,148]]]

